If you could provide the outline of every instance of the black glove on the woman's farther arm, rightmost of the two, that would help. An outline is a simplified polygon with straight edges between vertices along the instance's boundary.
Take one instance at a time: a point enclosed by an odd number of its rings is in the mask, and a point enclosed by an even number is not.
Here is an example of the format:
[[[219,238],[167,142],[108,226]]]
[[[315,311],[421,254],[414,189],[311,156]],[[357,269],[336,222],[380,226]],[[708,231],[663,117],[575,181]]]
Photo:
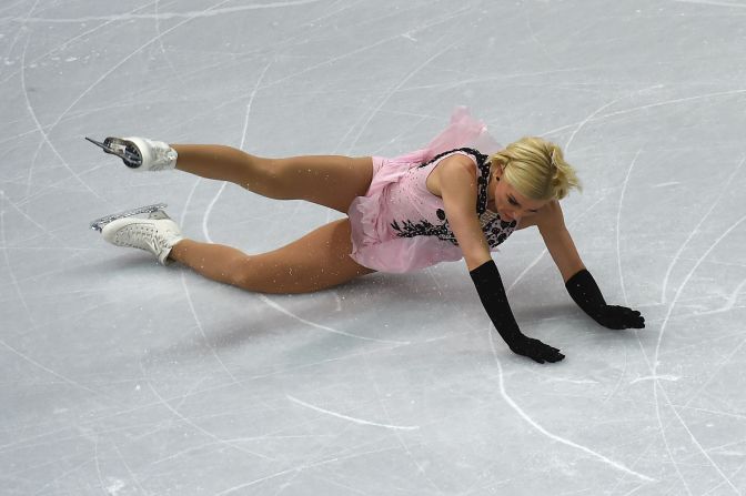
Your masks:
[[[565,283],[567,292],[583,312],[608,328],[643,328],[645,318],[639,312],[626,306],[607,305],[604,295],[591,273],[583,269]]]

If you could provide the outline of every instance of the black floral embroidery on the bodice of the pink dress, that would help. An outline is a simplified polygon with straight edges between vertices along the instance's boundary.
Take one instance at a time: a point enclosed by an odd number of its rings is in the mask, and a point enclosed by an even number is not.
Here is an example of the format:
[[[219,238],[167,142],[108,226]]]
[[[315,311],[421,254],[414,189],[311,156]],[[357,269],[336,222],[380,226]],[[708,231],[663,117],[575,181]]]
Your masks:
[[[507,239],[507,236],[513,233],[516,226],[516,221],[506,222],[500,217],[500,214],[496,212],[491,212],[487,210],[487,184],[490,178],[490,162],[488,156],[480,153],[477,150],[471,148],[460,148],[454,150],[448,150],[443,153],[438,153],[433,156],[425,163],[419,165],[419,168],[424,168],[431,163],[440,160],[441,158],[451,154],[453,152],[464,152],[476,159],[477,169],[480,175],[476,180],[477,182],[477,194],[476,194],[476,213],[480,216],[480,223],[482,224],[482,232],[487,240],[487,243],[491,247],[495,247]],[[391,223],[391,227],[396,231],[399,237],[414,237],[414,236],[436,236],[441,240],[448,241],[454,245],[458,245],[456,236],[451,231],[448,226],[448,220],[445,216],[443,209],[437,209],[436,211],[437,219],[442,222],[441,224],[433,224],[427,220],[422,220],[420,222],[414,222],[411,220],[403,220],[401,222],[394,221]]]

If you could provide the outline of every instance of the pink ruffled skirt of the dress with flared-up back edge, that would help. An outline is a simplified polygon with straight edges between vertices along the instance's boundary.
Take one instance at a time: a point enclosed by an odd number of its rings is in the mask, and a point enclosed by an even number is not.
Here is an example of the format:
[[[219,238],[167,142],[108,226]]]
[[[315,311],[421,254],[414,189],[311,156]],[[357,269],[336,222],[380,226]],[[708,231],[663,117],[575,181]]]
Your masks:
[[[487,133],[486,125],[457,108],[451,123],[427,146],[393,159],[373,158],[373,181],[364,196],[357,196],[347,215],[352,226],[352,253],[359,264],[379,272],[403,273],[463,257],[461,249],[435,236],[399,237],[390,225],[391,205],[385,190],[406,172],[430,161],[438,153],[470,146],[492,154],[501,149]]]

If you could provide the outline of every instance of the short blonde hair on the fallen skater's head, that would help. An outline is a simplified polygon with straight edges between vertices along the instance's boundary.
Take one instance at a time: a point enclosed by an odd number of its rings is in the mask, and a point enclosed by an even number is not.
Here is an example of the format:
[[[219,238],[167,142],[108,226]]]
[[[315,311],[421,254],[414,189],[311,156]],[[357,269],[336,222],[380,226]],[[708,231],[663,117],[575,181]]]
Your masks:
[[[572,165],[562,150],[542,138],[522,138],[490,158],[503,168],[503,178],[518,193],[532,200],[562,200],[569,190],[581,190]]]

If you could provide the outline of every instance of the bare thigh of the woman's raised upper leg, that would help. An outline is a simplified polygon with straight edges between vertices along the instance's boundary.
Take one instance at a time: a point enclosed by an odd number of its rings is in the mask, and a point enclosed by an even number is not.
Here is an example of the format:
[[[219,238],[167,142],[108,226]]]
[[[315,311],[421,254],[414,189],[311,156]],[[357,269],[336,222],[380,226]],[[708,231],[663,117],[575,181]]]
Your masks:
[[[355,196],[367,192],[373,179],[370,156],[310,155],[261,159],[286,199],[306,200],[347,213]]]

